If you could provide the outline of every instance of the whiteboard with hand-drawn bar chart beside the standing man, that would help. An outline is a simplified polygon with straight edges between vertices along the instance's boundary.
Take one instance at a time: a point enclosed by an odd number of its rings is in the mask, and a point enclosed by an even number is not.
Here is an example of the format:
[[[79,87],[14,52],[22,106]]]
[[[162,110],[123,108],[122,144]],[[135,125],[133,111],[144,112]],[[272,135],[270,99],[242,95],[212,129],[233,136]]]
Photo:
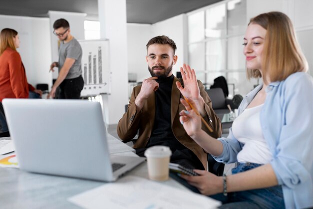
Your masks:
[[[82,49],[81,96],[110,93],[108,40],[78,40]]]

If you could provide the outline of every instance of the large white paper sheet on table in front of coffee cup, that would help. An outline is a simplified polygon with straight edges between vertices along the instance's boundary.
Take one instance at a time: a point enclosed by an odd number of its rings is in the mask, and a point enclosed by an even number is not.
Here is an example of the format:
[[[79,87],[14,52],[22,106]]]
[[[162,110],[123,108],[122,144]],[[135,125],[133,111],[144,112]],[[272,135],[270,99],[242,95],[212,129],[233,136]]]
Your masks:
[[[69,197],[68,201],[86,209],[209,209],[220,205],[210,197],[135,176],[106,183]]]

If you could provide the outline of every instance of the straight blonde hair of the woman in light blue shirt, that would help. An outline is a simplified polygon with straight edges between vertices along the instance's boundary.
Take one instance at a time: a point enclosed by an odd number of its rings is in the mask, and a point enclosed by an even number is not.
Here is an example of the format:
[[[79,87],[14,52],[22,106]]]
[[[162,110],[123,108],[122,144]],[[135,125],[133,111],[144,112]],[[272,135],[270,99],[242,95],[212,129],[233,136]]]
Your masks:
[[[296,40],[292,23],[285,14],[263,13],[250,19],[249,24],[264,28],[266,36],[261,64],[262,75],[257,69],[246,69],[248,79],[262,76],[269,78],[269,82],[282,81],[292,73],[307,71],[307,61]]]

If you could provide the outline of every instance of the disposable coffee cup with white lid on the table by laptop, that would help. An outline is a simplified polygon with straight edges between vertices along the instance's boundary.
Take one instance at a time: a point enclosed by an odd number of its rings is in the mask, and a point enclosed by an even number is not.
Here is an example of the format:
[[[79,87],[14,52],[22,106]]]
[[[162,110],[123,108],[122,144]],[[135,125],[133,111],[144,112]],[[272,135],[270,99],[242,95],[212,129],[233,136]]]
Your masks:
[[[167,146],[152,146],[144,152],[147,160],[149,179],[164,181],[168,179],[168,163],[171,151]]]

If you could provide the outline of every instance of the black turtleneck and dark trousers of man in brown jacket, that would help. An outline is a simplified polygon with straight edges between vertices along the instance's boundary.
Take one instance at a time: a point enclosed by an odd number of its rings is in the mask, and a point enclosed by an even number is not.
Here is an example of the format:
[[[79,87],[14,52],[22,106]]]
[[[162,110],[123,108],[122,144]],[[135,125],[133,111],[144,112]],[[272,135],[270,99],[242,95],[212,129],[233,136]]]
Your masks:
[[[150,139],[145,148],[136,149],[139,156],[143,156],[146,148],[163,145],[171,149],[170,161],[186,167],[203,169],[203,165],[197,156],[174,136],[171,129],[170,103],[171,88],[174,76],[158,78],[155,81],[159,87],[155,91],[155,117]],[[176,114],[176,113],[175,113]]]

